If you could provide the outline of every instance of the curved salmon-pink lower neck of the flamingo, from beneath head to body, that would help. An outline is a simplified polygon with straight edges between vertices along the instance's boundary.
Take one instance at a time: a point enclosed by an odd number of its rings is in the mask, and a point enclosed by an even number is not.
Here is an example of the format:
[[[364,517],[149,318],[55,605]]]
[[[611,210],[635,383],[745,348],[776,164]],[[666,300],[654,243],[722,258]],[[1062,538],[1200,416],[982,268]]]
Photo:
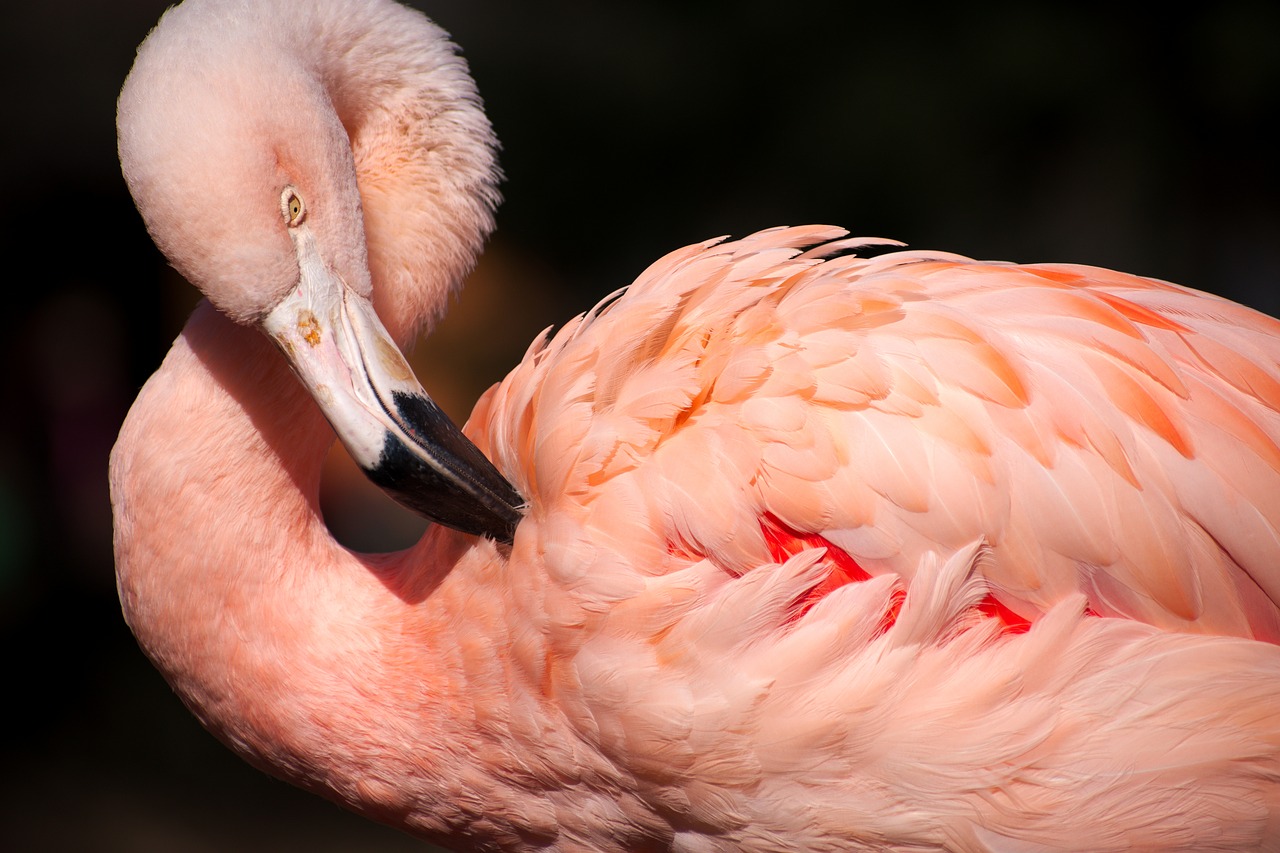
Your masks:
[[[452,661],[468,615],[442,587],[492,544],[433,528],[412,552],[346,551],[317,503],[332,442],[271,345],[204,304],[113,451],[116,581],[140,646],[219,739],[392,820],[471,761],[475,690]],[[424,785],[380,785],[397,765]]]

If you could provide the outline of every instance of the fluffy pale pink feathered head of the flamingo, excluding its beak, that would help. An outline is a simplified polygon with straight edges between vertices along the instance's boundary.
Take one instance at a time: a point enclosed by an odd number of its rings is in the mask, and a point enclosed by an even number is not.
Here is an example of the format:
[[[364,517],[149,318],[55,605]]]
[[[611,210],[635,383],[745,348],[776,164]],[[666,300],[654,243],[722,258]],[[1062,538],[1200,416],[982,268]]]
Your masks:
[[[493,228],[495,141],[447,35],[389,0],[170,9],[119,100],[124,177],[156,245],[238,321],[298,283],[282,196],[402,343]]]

